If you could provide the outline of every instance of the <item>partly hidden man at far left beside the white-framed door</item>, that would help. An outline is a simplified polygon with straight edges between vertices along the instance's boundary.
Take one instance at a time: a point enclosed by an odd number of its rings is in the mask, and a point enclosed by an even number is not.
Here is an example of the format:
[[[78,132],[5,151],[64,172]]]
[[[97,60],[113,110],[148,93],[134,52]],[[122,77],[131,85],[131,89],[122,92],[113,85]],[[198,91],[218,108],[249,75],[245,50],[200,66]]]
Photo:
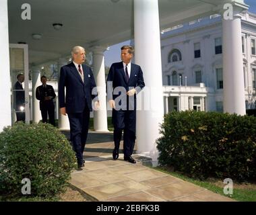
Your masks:
[[[24,75],[19,74],[17,75],[18,81],[14,85],[14,107],[15,107],[15,113],[17,122],[23,121],[25,122],[25,91],[22,87],[22,83],[24,82]]]

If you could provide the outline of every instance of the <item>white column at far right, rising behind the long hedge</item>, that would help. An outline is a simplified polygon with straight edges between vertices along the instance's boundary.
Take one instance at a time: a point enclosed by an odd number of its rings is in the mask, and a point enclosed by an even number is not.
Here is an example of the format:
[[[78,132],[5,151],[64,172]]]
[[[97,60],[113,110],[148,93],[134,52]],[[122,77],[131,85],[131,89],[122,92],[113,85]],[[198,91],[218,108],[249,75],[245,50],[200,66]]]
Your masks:
[[[245,115],[241,17],[222,19],[224,112]]]

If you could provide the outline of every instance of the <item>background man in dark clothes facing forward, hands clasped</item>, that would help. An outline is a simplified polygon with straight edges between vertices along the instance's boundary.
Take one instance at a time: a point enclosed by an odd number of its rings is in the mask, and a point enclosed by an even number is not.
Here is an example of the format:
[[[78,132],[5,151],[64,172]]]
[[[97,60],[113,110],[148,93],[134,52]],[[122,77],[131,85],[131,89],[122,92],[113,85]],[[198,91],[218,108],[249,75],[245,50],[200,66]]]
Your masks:
[[[36,87],[36,99],[40,100],[40,111],[42,115],[42,122],[47,122],[47,114],[49,116],[49,122],[55,126],[55,105],[53,99],[55,99],[55,91],[53,86],[46,85],[47,78],[43,75],[41,77],[42,85]]]

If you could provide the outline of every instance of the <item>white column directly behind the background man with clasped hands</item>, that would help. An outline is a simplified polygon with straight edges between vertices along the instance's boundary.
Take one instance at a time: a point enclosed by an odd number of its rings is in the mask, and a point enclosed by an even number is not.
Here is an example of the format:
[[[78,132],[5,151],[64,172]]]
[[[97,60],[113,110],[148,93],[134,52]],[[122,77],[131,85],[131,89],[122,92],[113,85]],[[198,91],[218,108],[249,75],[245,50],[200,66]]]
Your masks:
[[[40,69],[33,68],[32,69],[32,101],[33,101],[33,112],[32,112],[32,120],[33,122],[39,122],[42,119],[40,112],[39,100],[36,99],[36,87],[41,84],[40,81]]]

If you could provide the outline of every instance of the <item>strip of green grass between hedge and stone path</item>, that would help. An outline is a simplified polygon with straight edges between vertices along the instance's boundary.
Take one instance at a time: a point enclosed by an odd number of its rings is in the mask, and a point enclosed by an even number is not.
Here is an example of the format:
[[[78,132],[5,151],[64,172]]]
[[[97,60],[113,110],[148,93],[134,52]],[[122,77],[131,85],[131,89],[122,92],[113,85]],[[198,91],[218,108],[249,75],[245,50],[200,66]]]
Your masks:
[[[252,183],[234,183],[233,187],[233,195],[227,196],[223,192],[223,188],[226,184],[223,183],[220,179],[207,179],[205,181],[200,181],[198,179],[193,179],[191,177],[187,177],[186,175],[178,172],[171,171],[168,167],[154,167],[158,171],[162,171],[163,173],[167,173],[174,177],[178,177],[179,179],[183,179],[184,181],[189,181],[194,183],[195,185],[199,185],[200,187],[205,187],[213,191],[214,193],[219,193],[222,196],[230,197],[236,201],[240,202],[256,202],[256,181]]]

